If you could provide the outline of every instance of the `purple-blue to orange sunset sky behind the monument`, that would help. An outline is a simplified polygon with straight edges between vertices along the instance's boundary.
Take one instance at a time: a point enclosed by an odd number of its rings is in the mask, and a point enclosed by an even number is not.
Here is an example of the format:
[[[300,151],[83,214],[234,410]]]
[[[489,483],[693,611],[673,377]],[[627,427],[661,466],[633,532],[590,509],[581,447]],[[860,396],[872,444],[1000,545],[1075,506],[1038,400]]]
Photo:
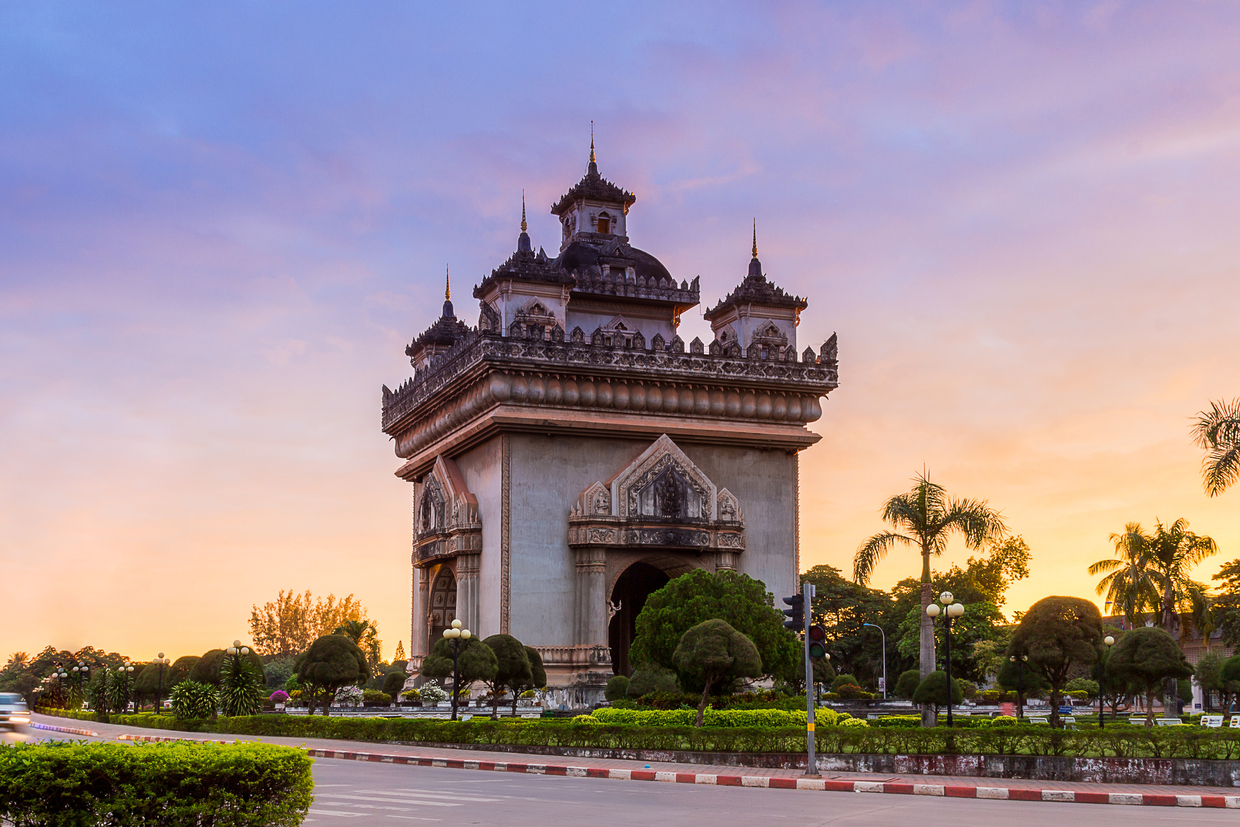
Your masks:
[[[445,263],[476,322],[522,188],[554,254],[591,120],[703,305],[756,218],[800,347],[838,331],[804,567],[851,570],[923,467],[1032,547],[1007,610],[1094,598],[1128,521],[1240,557],[1189,439],[1240,396],[1240,6],[425,7],[0,6],[0,663],[201,653],[281,588],[408,650],[379,388]]]

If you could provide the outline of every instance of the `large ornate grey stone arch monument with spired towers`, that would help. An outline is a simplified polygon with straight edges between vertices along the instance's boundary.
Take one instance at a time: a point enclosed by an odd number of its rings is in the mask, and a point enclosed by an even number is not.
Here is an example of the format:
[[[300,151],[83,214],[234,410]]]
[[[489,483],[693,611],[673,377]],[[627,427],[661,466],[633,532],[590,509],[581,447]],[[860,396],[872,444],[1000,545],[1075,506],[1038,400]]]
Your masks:
[[[585,176],[552,206],[559,254],[516,252],[443,315],[383,388],[383,431],[413,500],[409,667],[459,617],[536,647],[553,703],[601,699],[627,673],[635,621],[670,578],[704,568],[796,590],[799,453],[837,386],[835,335],[797,352],[805,299],[748,275],[686,343],[699,284],[629,243],[636,197]]]

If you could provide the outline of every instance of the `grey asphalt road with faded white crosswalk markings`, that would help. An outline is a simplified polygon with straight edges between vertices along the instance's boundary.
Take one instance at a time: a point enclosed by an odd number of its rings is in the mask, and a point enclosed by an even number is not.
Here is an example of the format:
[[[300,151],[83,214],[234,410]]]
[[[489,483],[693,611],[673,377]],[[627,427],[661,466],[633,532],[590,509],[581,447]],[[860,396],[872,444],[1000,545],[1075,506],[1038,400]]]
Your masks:
[[[89,728],[89,724],[83,727]],[[77,739],[37,729],[26,734],[0,734],[0,740],[5,743],[52,738]],[[1234,810],[720,787],[339,759],[315,760],[314,779],[315,803],[306,823],[316,827],[401,822],[418,822],[428,827],[436,823],[495,827],[593,827],[604,823],[810,827],[847,823],[847,827],[892,827],[945,820],[950,820],[952,827],[994,827],[996,823],[1045,827],[1048,821],[1089,823],[1090,827],[1213,827],[1238,823]]]

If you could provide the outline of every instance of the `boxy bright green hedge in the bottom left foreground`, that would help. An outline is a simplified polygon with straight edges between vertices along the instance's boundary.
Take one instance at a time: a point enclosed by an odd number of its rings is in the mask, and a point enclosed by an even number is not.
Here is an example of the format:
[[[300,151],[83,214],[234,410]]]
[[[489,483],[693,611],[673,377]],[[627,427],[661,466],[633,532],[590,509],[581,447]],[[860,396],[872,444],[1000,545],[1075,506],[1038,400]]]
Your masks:
[[[300,825],[311,759],[272,744],[0,746],[0,816],[14,825]]]

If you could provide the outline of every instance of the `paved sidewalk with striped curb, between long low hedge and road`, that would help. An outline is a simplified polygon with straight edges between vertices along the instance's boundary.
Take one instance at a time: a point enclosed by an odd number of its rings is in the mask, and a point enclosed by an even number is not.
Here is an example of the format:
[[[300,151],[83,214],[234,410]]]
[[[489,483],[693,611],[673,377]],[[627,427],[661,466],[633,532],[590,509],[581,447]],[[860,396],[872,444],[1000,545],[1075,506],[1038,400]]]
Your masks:
[[[642,763],[620,759],[560,758],[521,753],[405,746],[371,741],[346,741],[326,738],[253,738],[203,733],[175,733],[141,727],[86,724],[61,718],[36,715],[51,725],[89,727],[103,738],[124,740],[211,740],[249,741],[305,746],[316,758],[356,761],[448,766],[501,772],[541,772],[609,777],[632,781],[671,781],[722,786],[781,787],[839,792],[885,792],[932,795],[965,798],[1006,798],[1023,801],[1075,801],[1086,803],[1157,805],[1182,807],[1240,808],[1240,789],[1185,787],[1140,784],[1087,784],[1073,781],[1035,781],[941,775],[888,775],[872,772],[831,772],[821,779],[806,779],[797,770],[735,767],[703,764]]]

